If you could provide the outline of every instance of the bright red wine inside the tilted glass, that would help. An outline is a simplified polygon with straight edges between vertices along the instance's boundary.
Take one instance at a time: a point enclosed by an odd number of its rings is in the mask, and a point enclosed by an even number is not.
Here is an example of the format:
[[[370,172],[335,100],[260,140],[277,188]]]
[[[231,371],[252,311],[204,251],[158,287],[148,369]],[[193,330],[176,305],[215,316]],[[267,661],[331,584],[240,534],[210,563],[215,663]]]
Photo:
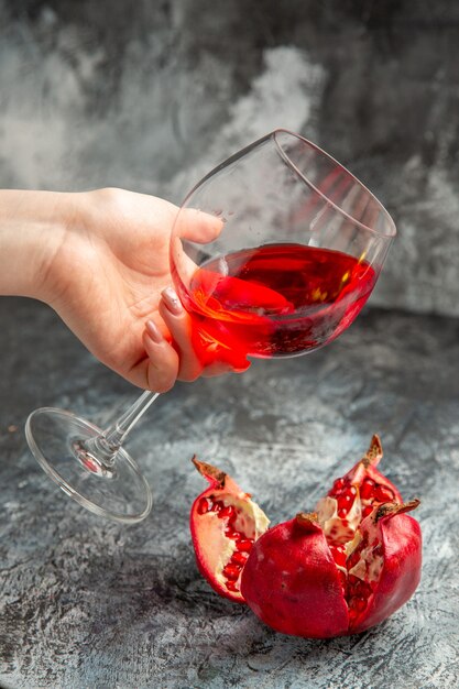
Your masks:
[[[204,363],[317,349],[356,318],[375,284],[371,265],[300,244],[265,244],[209,261],[181,292]]]

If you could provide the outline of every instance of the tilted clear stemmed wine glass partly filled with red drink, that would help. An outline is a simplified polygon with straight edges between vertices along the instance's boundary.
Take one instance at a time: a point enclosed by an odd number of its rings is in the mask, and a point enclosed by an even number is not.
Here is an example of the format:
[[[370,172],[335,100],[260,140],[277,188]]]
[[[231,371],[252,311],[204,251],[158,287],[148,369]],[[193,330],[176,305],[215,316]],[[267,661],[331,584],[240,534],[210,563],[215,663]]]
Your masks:
[[[212,219],[206,244],[187,239],[190,208]],[[171,270],[201,364],[243,370],[248,357],[294,357],[330,342],[370,296],[395,233],[376,198],[298,134],[277,129],[232,155],[188,194],[171,234]],[[152,494],[123,441],[156,397],[144,392],[105,430],[36,409],[29,446],[80,505],[139,522]]]

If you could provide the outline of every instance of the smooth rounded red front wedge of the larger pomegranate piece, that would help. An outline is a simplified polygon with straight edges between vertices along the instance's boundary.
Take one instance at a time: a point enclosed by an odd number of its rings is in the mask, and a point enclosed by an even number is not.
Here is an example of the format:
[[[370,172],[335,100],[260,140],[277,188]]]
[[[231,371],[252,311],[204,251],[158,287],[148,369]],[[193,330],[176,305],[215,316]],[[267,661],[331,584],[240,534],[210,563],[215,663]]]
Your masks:
[[[277,632],[339,636],[348,633],[349,615],[338,571],[320,526],[295,517],[255,542],[242,571],[241,593]]]

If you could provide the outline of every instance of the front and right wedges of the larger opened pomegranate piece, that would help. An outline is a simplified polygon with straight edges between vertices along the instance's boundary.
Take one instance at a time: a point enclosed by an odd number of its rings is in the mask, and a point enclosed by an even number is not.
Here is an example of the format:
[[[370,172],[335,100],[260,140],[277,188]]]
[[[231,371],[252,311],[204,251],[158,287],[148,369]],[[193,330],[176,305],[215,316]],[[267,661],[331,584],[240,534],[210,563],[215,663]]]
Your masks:
[[[342,551],[329,544],[316,513],[275,526],[243,569],[245,602],[277,632],[309,638],[357,634],[382,622],[419,582],[420,529],[405,514],[417,505],[375,507]]]

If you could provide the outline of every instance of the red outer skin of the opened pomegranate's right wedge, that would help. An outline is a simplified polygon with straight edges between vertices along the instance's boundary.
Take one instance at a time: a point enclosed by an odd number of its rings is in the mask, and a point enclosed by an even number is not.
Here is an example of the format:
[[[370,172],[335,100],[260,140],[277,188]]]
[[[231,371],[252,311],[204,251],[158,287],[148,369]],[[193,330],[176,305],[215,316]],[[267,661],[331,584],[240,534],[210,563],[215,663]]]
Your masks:
[[[349,634],[364,632],[386,620],[406,603],[420,581],[423,537],[419,524],[407,514],[387,515],[380,523],[384,567],[369,606],[351,623]]]

